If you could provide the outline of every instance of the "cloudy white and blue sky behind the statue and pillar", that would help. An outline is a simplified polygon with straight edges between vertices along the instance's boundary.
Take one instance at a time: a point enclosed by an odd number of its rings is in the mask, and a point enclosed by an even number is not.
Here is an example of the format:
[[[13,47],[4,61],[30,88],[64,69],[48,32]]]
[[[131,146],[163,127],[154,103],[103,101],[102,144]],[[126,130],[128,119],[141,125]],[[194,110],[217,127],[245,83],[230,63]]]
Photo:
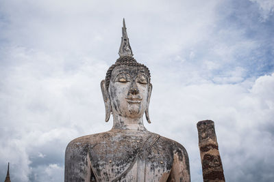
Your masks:
[[[215,123],[226,181],[274,179],[274,1],[0,0],[0,181],[64,181],[66,145],[105,132],[100,82],[121,27],[149,67],[151,132],[184,145]],[[145,121],[145,119],[144,119]]]

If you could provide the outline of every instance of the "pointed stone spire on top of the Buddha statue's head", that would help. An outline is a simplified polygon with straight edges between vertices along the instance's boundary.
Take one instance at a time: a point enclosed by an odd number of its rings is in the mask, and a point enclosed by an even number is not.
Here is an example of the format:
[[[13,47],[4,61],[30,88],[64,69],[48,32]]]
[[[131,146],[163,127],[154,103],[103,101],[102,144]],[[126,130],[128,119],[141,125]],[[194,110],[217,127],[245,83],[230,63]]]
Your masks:
[[[122,27],[122,40],[121,40],[121,46],[119,49],[119,56],[120,57],[133,57],[132,54],[132,48],[129,44],[129,38],[127,37],[127,28],[125,27],[125,18],[123,18],[123,27]]]

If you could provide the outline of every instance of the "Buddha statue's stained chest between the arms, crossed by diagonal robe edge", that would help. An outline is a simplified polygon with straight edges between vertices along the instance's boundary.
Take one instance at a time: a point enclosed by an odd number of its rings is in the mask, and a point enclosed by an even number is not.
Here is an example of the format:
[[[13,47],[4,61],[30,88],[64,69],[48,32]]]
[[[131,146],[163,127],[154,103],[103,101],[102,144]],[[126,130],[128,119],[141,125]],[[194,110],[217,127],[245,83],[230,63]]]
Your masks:
[[[109,139],[109,140],[108,140]],[[90,147],[90,165],[97,181],[161,181],[169,176],[173,154],[160,136],[106,138]]]

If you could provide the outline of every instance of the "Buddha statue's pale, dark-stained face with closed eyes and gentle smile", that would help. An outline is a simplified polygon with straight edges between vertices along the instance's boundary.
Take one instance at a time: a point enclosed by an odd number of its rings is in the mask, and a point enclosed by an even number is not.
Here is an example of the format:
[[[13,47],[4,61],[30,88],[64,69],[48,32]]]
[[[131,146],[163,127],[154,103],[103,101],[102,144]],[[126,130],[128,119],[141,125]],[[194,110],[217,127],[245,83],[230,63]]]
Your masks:
[[[142,117],[149,103],[149,85],[144,67],[116,66],[108,89],[112,112],[122,117]]]

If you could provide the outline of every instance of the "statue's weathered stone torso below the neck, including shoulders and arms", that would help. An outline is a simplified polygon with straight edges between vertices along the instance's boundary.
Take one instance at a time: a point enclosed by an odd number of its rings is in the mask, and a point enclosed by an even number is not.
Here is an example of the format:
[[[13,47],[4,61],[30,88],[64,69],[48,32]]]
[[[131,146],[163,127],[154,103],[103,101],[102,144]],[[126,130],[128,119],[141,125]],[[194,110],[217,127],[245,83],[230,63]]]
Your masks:
[[[150,134],[110,130],[71,141],[66,149],[65,181],[88,181],[91,174],[97,181],[114,181],[117,177],[122,181],[167,181],[178,177],[189,181],[188,155],[179,143],[153,134],[138,151]]]

